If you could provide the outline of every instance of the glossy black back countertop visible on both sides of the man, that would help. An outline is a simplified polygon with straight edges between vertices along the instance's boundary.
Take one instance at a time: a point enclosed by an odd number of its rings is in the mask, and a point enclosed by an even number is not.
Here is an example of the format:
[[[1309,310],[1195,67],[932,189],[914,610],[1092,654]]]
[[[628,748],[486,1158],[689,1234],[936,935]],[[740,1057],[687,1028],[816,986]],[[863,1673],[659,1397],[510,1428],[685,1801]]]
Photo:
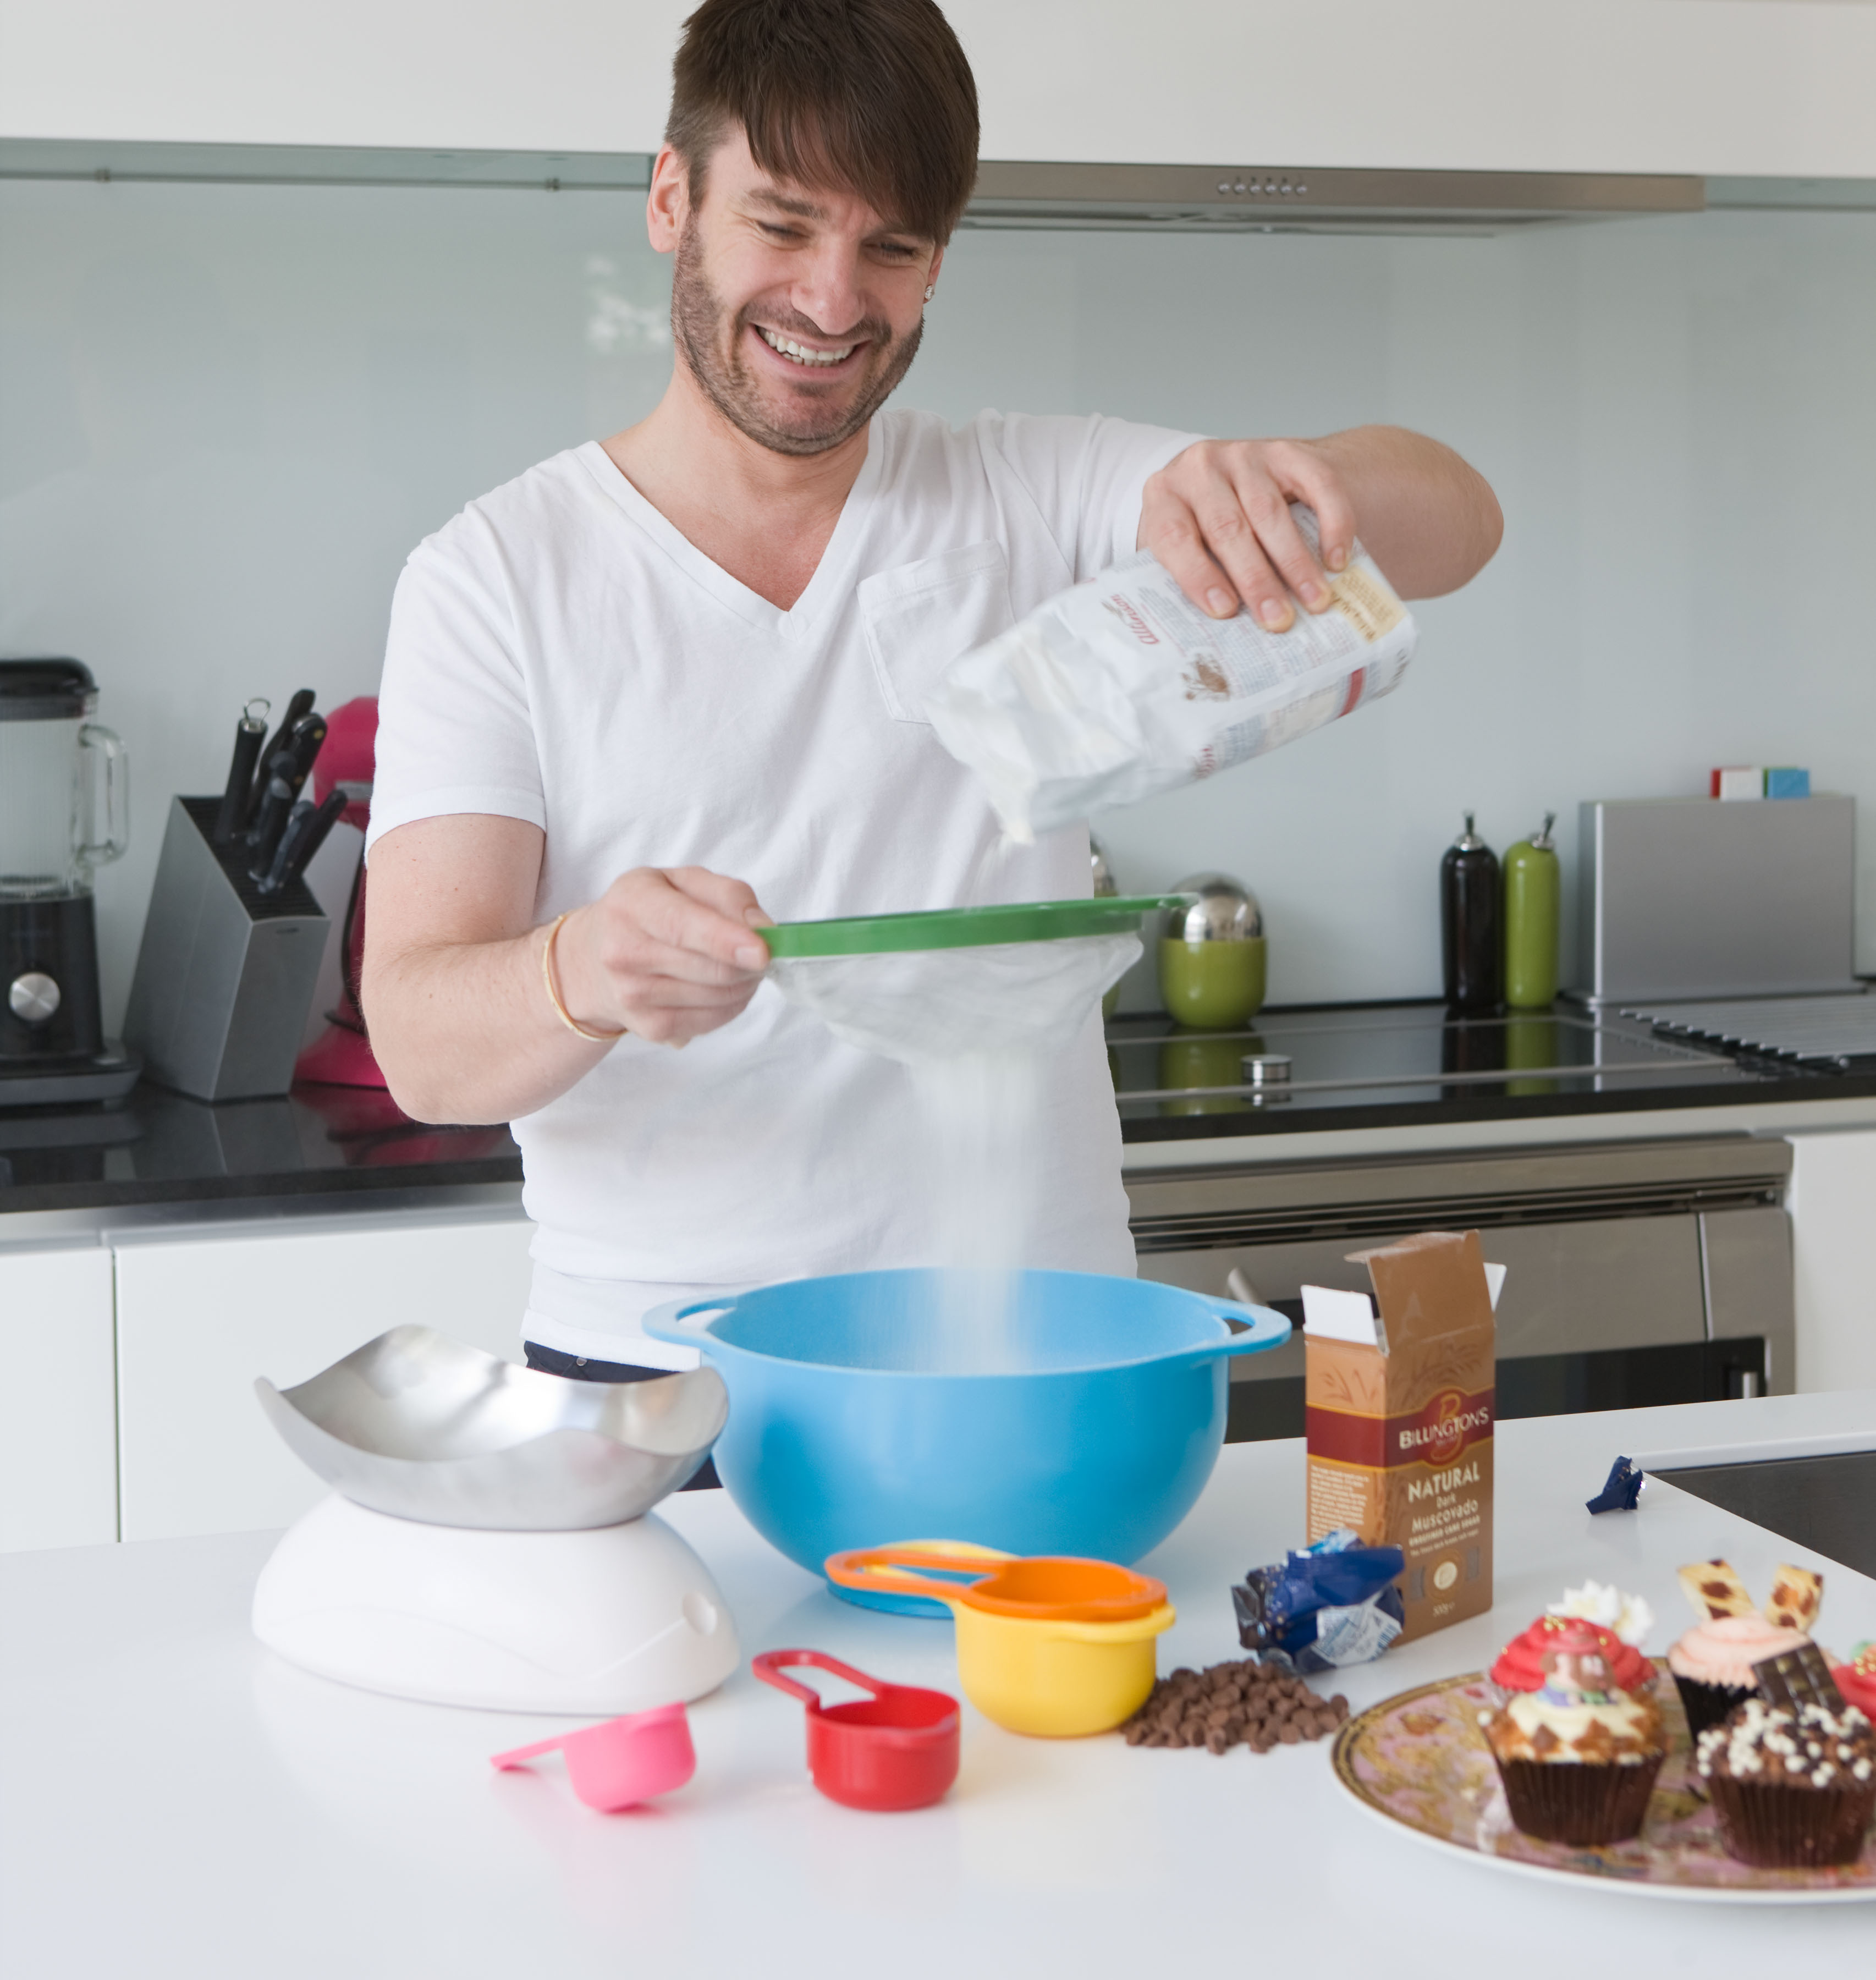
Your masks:
[[[1268,1010],[1221,1034],[1134,1016],[1116,1018],[1108,1040],[1134,1144],[1876,1099],[1876,1061],[1817,1071],[1730,1057],[1571,1006],[1466,1022],[1437,1002],[1314,1006]],[[1286,1057],[1288,1081],[1251,1087],[1247,1053]],[[505,1127],[423,1127],[366,1087],[305,1085],[210,1107],[144,1083],[109,1113],[0,1111],[0,1218],[358,1208],[518,1182]]]

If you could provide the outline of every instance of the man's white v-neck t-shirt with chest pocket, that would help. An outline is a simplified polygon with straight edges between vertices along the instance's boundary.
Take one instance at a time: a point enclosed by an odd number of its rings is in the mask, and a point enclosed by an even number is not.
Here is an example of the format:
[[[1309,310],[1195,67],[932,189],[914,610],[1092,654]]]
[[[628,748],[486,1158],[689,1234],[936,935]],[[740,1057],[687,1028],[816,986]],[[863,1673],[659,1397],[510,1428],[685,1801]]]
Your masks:
[[[960,653],[1130,554],[1146,477],[1191,440],[885,412],[790,612],[604,447],[558,453],[404,568],[370,838],[465,812],[540,826],[536,921],[645,865],[734,875],[776,921],[1086,895],[1086,832],[1003,845],[920,707]],[[683,1051],[619,1040],[513,1131],[536,1224],[524,1331],[568,1354],[685,1366],[637,1333],[663,1301],[942,1263],[908,1071],[770,984]],[[1132,1273],[1098,1018],[1049,1059],[1027,1133],[1025,1263]]]

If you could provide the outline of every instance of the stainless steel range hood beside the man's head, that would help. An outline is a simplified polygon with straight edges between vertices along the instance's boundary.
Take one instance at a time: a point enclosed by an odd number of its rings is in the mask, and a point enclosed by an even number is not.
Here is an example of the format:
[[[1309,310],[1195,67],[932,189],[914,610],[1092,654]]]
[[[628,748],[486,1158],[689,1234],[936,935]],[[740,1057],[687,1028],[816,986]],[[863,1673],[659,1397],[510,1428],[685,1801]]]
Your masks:
[[[1698,214],[1706,182],[1611,172],[1352,172],[1274,164],[1019,164],[985,158],[968,228],[1170,234],[1500,234],[1561,220]]]

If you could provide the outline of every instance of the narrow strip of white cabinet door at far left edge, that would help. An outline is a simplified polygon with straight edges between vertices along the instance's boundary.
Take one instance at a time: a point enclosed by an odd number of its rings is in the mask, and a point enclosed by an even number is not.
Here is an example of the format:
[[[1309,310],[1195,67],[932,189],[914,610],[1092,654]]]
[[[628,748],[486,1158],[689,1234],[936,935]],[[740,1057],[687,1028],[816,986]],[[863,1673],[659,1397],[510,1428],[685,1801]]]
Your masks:
[[[0,1552],[115,1538],[111,1253],[0,1247]]]

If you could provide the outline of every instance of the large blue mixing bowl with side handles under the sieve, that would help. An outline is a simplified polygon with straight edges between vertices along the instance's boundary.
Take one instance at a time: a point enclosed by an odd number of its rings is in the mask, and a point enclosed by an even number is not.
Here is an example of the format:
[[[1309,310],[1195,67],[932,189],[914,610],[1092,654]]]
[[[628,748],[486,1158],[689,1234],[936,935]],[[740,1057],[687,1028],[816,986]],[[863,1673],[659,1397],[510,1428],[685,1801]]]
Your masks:
[[[1023,1271],[978,1346],[999,1352],[974,1366],[960,1346],[972,1340],[958,1325],[964,1277],[855,1271],[645,1317],[649,1335],[701,1348],[728,1384],[716,1471],[790,1560],[819,1574],[833,1552],[891,1540],[1138,1560],[1211,1477],[1229,1356],[1290,1335],[1268,1307]],[[1227,1315],[1249,1329],[1233,1333]]]

